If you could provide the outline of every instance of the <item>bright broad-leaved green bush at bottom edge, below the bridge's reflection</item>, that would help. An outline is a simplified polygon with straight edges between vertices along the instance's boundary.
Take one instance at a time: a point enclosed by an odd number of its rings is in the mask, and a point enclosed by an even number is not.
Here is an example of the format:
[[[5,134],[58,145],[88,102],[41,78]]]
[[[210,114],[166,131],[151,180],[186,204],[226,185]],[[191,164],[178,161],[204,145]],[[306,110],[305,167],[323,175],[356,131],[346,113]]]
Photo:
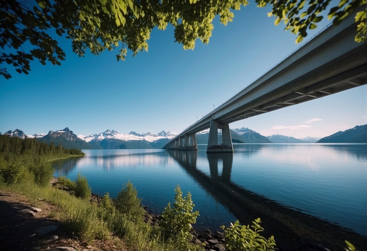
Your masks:
[[[241,225],[239,221],[231,223],[229,228],[222,226],[225,233],[226,247],[231,251],[274,251],[275,240],[271,236],[266,240],[259,233],[264,231],[260,223],[260,218],[252,221],[254,225]]]

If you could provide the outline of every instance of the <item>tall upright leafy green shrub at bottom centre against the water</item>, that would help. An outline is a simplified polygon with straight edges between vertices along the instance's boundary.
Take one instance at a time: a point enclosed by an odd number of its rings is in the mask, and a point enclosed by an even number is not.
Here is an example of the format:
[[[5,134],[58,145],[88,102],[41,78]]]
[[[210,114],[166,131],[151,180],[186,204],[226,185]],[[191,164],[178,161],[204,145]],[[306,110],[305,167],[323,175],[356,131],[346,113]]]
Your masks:
[[[195,224],[196,218],[199,216],[199,211],[192,211],[194,206],[190,192],[188,192],[185,198],[182,198],[181,187],[177,185],[173,208],[171,203],[168,203],[162,213],[163,220],[160,223],[160,227],[166,238],[191,240],[191,224]]]

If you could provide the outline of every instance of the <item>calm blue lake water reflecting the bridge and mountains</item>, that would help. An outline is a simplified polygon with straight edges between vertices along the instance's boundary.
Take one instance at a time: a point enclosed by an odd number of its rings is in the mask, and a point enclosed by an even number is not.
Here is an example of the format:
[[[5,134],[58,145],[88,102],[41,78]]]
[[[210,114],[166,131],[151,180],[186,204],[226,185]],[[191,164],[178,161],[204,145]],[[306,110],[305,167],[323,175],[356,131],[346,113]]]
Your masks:
[[[279,224],[295,231],[314,224],[315,235],[325,227],[330,234],[354,232],[357,239],[366,238],[366,144],[233,148],[233,154],[207,154],[205,145],[198,151],[83,150],[86,157],[52,165],[55,176],[75,179],[80,172],[92,192],[102,196],[116,196],[130,180],[143,204],[155,212],[172,202],[179,184],[184,194],[191,192],[194,210],[200,211],[197,228],[215,230],[237,218],[249,224],[261,216],[263,224],[264,219],[273,222],[270,231]],[[303,225],[294,227],[288,221]]]

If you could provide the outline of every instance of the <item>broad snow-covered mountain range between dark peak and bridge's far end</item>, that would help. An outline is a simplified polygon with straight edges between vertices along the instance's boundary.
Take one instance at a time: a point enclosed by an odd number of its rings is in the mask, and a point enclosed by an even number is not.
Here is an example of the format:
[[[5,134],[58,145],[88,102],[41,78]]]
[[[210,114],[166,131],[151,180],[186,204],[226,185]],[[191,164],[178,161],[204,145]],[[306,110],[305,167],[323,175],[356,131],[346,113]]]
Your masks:
[[[90,145],[100,146],[103,149],[149,149],[163,147],[176,135],[174,132],[165,131],[158,134],[150,132],[138,134],[135,131],[131,131],[129,134],[121,134],[115,130],[106,130],[99,134],[79,135],[78,137]]]

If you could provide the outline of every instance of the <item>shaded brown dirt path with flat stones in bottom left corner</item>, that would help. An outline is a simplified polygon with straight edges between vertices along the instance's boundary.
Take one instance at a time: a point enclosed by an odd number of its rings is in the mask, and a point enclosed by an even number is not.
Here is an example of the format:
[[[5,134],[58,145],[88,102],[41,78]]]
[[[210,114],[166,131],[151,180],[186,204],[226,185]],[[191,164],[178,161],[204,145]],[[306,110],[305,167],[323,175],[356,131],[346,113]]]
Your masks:
[[[32,206],[41,211],[36,212],[37,209]],[[74,239],[71,233],[63,230],[60,221],[51,219],[59,211],[56,206],[45,201],[31,200],[22,194],[0,190],[0,250],[128,251],[119,239],[113,237],[109,240],[95,240],[89,245]],[[53,230],[44,234],[47,232],[45,227]]]

